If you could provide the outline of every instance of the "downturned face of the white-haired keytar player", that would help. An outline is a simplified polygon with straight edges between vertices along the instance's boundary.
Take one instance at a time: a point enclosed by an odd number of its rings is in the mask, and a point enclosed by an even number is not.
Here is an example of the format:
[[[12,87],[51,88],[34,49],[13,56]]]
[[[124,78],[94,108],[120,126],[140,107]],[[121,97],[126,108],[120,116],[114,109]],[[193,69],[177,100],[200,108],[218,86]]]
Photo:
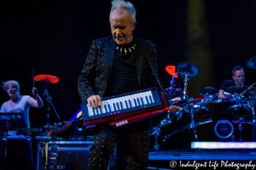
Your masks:
[[[132,31],[136,26],[136,21],[131,24],[131,15],[125,9],[115,9],[110,14],[110,26],[113,40],[118,45],[125,45],[132,40]]]

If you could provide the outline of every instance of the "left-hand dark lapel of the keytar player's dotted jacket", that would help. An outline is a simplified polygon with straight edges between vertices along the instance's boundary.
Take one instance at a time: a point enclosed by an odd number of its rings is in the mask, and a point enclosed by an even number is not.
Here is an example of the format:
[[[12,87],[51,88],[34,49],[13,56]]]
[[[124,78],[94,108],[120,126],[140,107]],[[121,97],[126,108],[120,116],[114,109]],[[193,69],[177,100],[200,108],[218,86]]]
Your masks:
[[[108,81],[113,68],[113,57],[115,52],[115,42],[113,41],[113,38],[111,38],[111,40],[108,42],[106,49],[107,49],[107,81]]]

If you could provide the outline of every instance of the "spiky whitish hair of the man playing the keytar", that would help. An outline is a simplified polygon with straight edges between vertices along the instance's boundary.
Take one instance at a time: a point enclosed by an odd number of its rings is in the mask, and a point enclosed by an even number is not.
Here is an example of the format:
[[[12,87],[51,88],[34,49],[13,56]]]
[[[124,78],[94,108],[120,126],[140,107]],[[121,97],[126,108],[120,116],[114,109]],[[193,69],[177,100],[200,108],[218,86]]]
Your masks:
[[[126,9],[128,13],[131,15],[131,24],[133,24],[136,21],[136,9],[134,8],[131,2],[125,2],[124,0],[113,0],[110,14],[115,9]],[[109,18],[110,18],[110,14],[109,14]]]

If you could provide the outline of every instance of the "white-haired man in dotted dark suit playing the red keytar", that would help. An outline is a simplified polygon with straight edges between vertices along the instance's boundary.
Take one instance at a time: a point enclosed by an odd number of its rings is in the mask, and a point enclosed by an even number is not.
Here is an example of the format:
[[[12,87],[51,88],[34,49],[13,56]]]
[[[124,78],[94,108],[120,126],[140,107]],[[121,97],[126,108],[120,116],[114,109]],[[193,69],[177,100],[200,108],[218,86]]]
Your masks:
[[[164,91],[157,75],[155,44],[132,33],[137,25],[135,8],[123,0],[113,0],[112,4],[109,15],[112,36],[93,40],[79,76],[81,99],[94,108],[109,96],[151,87]],[[171,106],[169,111],[178,109]],[[148,121],[137,122],[118,130],[107,123],[96,124],[88,169],[107,169],[115,142],[116,169],[147,169],[148,124]]]

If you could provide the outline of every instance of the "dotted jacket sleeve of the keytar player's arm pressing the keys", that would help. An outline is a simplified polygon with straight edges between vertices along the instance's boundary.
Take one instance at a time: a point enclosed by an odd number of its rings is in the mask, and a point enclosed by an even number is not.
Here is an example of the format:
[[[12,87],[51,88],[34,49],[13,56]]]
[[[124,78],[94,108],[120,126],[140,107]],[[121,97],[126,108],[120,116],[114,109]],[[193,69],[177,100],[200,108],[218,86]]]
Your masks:
[[[84,63],[83,70],[79,75],[78,90],[82,101],[86,101],[91,95],[96,95],[95,67],[97,60],[96,41],[93,40],[90,52]]]

